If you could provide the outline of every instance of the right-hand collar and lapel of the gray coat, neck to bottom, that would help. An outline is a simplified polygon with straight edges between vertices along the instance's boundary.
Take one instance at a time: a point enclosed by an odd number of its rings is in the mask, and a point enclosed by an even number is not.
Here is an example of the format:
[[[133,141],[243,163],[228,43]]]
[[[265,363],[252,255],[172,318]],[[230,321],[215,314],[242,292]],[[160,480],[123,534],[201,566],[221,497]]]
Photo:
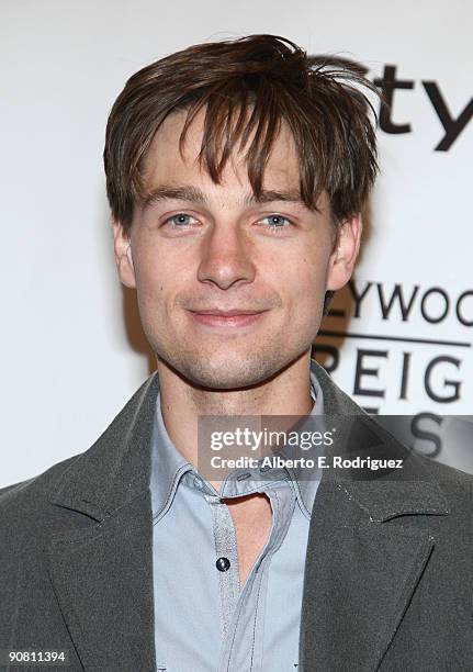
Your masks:
[[[448,509],[421,462],[318,369],[330,413],[361,418],[341,423],[340,452],[404,459],[402,477],[324,473],[311,519],[301,668],[369,672],[379,669],[429,561],[427,516]]]

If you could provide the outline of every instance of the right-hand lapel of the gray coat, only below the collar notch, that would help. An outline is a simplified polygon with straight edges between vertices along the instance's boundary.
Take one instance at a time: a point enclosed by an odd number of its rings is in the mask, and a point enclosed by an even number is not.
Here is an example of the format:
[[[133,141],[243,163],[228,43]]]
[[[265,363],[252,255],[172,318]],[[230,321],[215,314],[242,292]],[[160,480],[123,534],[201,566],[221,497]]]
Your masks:
[[[334,483],[320,486],[316,500],[304,582],[302,669],[376,670],[433,539],[360,516]]]

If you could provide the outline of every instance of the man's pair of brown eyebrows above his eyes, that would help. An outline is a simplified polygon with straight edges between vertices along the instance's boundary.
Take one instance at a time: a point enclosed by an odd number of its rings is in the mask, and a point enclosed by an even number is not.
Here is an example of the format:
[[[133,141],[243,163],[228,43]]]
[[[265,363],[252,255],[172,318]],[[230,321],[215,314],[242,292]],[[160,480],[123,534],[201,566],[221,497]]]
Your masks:
[[[199,205],[207,205],[207,199],[203,191],[198,187],[192,186],[168,186],[162,184],[151,189],[143,199],[144,208],[149,208],[159,201],[188,201],[198,203]],[[256,203],[271,203],[273,201],[286,201],[290,203],[303,203],[300,191],[274,191],[263,190],[259,198],[254,193],[247,193],[243,199],[244,205],[254,205]]]

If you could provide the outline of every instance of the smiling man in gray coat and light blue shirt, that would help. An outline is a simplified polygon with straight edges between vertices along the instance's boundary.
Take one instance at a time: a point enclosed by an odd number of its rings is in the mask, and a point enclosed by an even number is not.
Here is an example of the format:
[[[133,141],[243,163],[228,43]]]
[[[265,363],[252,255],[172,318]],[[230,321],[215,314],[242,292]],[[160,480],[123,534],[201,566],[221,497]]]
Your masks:
[[[407,459],[311,359],[376,172],[361,72],[254,35],[126,83],[108,195],[157,371],[87,452],[0,494],[10,656],[66,651],[88,672],[473,669],[471,477]],[[360,416],[340,449],[401,456],[404,478],[205,477],[203,416],[323,413]]]

